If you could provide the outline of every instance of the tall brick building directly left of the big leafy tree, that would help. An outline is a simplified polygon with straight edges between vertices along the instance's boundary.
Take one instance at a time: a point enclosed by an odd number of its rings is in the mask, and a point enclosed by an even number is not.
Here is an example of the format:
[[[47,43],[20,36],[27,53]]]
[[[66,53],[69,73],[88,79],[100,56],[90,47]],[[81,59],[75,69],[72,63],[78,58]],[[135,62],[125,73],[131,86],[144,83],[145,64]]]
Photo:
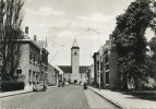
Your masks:
[[[111,40],[107,40],[103,48],[103,77],[104,88],[121,88],[120,74],[118,72],[118,52]]]

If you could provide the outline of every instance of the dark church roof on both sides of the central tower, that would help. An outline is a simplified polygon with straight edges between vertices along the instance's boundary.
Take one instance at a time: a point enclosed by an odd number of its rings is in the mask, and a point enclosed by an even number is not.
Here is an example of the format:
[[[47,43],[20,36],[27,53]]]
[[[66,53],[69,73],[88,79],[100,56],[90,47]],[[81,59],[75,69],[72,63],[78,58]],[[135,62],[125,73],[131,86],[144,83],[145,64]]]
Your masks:
[[[59,65],[59,68],[64,72],[64,73],[72,73],[72,66],[71,65]],[[88,65],[82,65],[80,66],[80,73],[86,73],[88,70]]]

